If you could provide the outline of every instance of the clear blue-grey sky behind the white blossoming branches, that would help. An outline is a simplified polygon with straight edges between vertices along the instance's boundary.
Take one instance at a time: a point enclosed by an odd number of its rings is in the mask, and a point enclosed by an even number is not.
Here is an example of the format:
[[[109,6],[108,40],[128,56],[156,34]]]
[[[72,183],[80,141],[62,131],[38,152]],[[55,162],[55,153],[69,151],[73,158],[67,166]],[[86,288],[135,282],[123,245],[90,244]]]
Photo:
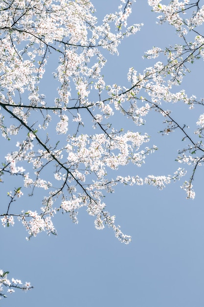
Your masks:
[[[99,20],[114,12],[119,4],[117,0],[92,2]],[[107,83],[127,84],[129,67],[142,72],[151,66],[150,61],[142,59],[144,51],[178,40],[174,28],[155,24],[156,14],[151,12],[146,0],[133,3],[130,24],[141,22],[144,23],[141,31],[122,41],[119,56],[104,51],[108,58],[104,69]],[[202,60],[195,63],[182,85],[188,94],[198,98],[203,96],[203,65]],[[172,114],[181,124],[192,123],[192,131],[199,114],[203,113],[201,107],[189,111],[180,104],[166,108],[173,108]],[[130,123],[130,128],[125,128],[150,133],[152,144],[158,145],[159,150],[141,168],[124,168],[121,175],[168,175],[181,166],[175,159],[178,149],[183,147],[182,135],[179,131],[160,135],[159,114],[151,113],[144,127]],[[7,143],[2,141],[2,144]],[[94,218],[85,208],[79,211],[78,225],[72,224],[66,214],[56,215],[56,237],[41,233],[26,241],[27,233],[18,221],[14,227],[1,227],[1,268],[10,271],[10,278],[30,281],[34,289],[8,294],[7,299],[0,300],[0,305],[204,307],[203,180],[201,167],[194,180],[196,198],[193,201],[186,200],[180,188],[184,179],[162,191],[152,186],[117,186],[115,193],[106,197],[107,209],[116,215],[121,230],[132,236],[129,245],[117,241],[111,229],[96,230]],[[0,193],[7,188],[5,182],[0,186]],[[39,190],[32,198],[33,210],[42,193]],[[22,198],[22,202],[27,199]]]

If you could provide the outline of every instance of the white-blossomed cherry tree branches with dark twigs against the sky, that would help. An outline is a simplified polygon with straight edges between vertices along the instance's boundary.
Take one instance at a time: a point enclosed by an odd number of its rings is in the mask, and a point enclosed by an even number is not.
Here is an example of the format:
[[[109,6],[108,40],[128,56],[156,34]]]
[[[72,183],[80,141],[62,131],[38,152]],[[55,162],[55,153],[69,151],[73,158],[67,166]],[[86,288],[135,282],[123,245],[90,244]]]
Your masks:
[[[187,141],[177,161],[193,166],[182,188],[187,198],[195,197],[192,182],[204,160],[204,114],[191,135],[163,102],[181,101],[190,109],[204,105],[203,100],[188,97],[181,89],[189,64],[204,57],[204,36],[199,28],[204,21],[204,6],[200,0],[148,3],[158,14],[159,24],[175,27],[180,44],[144,51],[144,57],[156,59],[154,65],[140,73],[130,68],[129,86],[124,87],[106,83],[104,54],[108,51],[117,55],[123,39],[142,30],[142,24],[128,26],[131,1],[121,0],[117,12],[106,15],[102,24],[98,24],[89,0],[1,1],[0,129],[2,138],[9,146],[13,144],[9,152],[6,147],[1,150],[1,186],[11,182],[10,191],[1,192],[9,200],[6,210],[0,212],[3,227],[14,226],[19,220],[28,240],[42,231],[56,235],[52,222],[55,214],[68,213],[77,223],[79,208],[86,207],[95,217],[96,229],[106,225],[128,244],[131,237],[120,230],[115,216],[107,210],[106,194],[121,183],[162,189],[186,173],[178,167],[172,175],[121,176],[122,166],[140,167],[157,150],[156,145],[147,146],[150,136],[139,131],[151,111],[161,114],[165,125],[162,134],[180,130],[182,140]],[[46,75],[50,65],[53,71]],[[52,100],[46,98],[51,90]],[[115,124],[118,116],[134,122],[136,132]],[[25,208],[13,206],[26,193],[32,202],[38,188],[45,193],[35,211],[29,204]],[[3,287],[10,293],[14,288],[31,288],[28,282],[22,285],[20,280],[9,281],[7,274],[0,270],[1,297],[5,297]]]

